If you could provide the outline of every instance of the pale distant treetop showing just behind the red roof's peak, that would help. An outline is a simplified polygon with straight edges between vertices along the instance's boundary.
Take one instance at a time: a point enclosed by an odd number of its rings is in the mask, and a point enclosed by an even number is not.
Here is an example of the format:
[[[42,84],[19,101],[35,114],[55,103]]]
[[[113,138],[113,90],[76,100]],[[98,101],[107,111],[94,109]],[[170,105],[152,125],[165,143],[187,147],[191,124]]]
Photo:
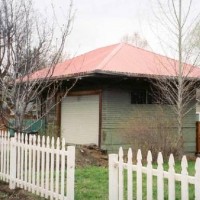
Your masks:
[[[147,40],[137,32],[134,32],[133,34],[124,35],[121,41],[143,49],[149,47]]]

